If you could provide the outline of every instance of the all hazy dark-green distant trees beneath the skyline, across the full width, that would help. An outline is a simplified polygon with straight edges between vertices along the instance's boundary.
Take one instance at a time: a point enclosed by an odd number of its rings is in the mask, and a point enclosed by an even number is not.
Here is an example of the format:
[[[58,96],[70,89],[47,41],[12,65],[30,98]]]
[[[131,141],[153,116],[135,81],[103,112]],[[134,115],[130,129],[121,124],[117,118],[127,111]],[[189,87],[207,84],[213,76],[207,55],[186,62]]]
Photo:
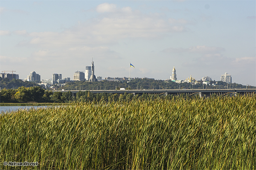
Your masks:
[[[214,84],[214,85],[212,85]],[[2,79],[0,77],[0,89],[17,89],[19,87],[35,87],[39,86],[35,82],[23,82],[19,79],[9,80],[8,78]],[[55,84],[54,86],[61,86],[60,84]],[[100,82],[87,82],[87,81],[74,81],[67,82],[64,86],[59,87],[58,89],[65,90],[118,90],[120,88],[126,89],[203,89],[203,88],[246,88],[242,84],[230,83],[221,81],[211,81],[209,85],[202,84],[202,81],[198,81],[197,84],[192,85],[188,82],[176,83],[173,81],[163,81],[163,80],[153,80],[153,79],[134,79],[131,82],[121,81],[121,82],[112,82],[103,80]],[[256,87],[248,87],[256,88]],[[50,89],[49,89],[50,90]]]

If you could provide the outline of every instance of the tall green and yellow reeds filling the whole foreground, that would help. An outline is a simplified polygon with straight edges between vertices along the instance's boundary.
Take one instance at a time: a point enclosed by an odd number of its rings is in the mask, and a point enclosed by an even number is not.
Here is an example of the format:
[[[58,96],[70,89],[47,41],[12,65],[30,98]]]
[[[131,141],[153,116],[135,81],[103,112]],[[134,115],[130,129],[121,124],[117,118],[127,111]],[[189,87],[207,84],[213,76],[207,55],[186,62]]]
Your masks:
[[[256,95],[77,102],[0,115],[0,169],[256,169]]]

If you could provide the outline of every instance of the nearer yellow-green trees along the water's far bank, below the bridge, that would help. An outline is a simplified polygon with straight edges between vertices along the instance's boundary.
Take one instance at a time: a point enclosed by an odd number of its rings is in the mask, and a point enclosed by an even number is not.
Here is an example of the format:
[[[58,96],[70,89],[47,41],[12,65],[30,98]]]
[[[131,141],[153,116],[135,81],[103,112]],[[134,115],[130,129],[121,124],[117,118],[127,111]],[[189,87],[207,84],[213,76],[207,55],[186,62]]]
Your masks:
[[[182,94],[183,95],[183,94]],[[184,95],[185,96],[185,95]],[[130,101],[132,99],[156,99],[172,98],[174,95],[164,94],[112,94],[97,93],[90,91],[79,91],[74,95],[72,92],[52,92],[41,87],[20,87],[18,89],[2,89],[0,91],[0,102],[17,103],[17,102],[56,102],[65,103],[72,101]]]

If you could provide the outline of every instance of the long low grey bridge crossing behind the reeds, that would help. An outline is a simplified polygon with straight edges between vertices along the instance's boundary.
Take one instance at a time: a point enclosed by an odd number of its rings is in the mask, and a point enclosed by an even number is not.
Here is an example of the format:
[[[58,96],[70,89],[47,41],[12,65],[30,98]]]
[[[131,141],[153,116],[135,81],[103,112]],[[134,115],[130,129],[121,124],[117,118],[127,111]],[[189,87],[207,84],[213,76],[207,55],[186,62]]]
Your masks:
[[[74,95],[78,93],[79,91],[90,91],[90,93],[112,93],[112,94],[124,94],[125,92],[127,94],[174,94],[174,95],[180,95],[180,94],[199,94],[200,97],[202,96],[209,96],[211,94],[220,94],[220,95],[227,95],[227,94],[249,94],[249,93],[256,93],[256,89],[162,89],[162,90],[56,90],[53,92],[68,92],[71,91]]]

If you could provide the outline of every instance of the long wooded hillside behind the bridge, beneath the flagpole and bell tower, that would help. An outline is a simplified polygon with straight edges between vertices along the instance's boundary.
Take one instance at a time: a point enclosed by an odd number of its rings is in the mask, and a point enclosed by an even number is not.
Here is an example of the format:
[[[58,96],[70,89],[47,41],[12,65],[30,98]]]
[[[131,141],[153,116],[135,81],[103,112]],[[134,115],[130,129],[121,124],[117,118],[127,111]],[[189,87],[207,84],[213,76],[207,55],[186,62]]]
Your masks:
[[[113,89],[202,89],[202,88],[246,88],[242,84],[230,83],[221,81],[211,81],[209,85],[203,84],[201,81],[198,81],[197,84],[192,85],[188,82],[176,83],[173,81],[163,81],[163,80],[152,80],[152,79],[135,79],[131,82],[114,82],[114,81],[101,81],[101,82],[86,82],[86,81],[75,81],[67,82],[62,89],[65,90],[113,90]],[[247,88],[256,88],[249,86]]]

